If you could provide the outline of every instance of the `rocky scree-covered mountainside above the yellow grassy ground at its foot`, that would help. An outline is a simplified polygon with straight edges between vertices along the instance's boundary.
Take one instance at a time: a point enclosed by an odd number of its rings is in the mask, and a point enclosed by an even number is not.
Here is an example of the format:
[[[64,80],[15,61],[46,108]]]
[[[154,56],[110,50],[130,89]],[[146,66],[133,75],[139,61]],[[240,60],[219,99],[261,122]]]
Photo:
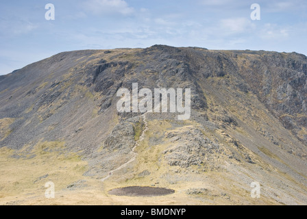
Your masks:
[[[191,88],[190,120],[117,112],[116,92],[132,83]],[[277,202],[307,203],[306,127],[307,57],[297,53],[164,45],[72,51],[0,76],[0,147],[60,140],[88,162],[86,176],[123,166],[139,141],[138,157],[119,170],[123,179],[159,175],[173,185],[223,172],[238,186],[271,183],[265,195]],[[284,191],[287,198],[274,195]]]

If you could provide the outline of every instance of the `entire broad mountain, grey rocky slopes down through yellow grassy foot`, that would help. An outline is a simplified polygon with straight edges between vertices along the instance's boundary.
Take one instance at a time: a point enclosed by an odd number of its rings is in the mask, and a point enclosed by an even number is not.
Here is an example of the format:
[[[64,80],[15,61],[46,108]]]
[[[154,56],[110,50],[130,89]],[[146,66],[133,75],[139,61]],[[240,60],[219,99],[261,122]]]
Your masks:
[[[306,77],[298,53],[164,45],[29,64],[0,78],[0,204],[306,205]],[[190,118],[119,112],[136,83],[190,88]],[[128,186],[175,193],[108,194]]]

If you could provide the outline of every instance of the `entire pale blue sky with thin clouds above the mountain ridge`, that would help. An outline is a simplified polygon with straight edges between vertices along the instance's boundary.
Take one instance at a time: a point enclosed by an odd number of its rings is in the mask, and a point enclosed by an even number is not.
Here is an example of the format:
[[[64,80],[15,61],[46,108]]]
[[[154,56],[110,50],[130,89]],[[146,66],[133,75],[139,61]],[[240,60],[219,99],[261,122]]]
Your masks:
[[[45,19],[47,3],[54,21]],[[253,3],[260,21],[250,18]],[[0,2],[0,75],[62,51],[168,44],[307,55],[306,39],[306,0]]]

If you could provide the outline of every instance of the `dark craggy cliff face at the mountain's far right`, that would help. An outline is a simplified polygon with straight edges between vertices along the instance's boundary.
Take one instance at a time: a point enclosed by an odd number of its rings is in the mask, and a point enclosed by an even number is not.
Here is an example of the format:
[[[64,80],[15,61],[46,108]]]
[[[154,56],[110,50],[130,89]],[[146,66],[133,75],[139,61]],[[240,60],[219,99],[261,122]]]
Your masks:
[[[241,67],[241,75],[252,92],[284,127],[306,144],[306,134],[299,135],[301,128],[307,126],[306,56],[263,52],[248,62],[249,65]]]

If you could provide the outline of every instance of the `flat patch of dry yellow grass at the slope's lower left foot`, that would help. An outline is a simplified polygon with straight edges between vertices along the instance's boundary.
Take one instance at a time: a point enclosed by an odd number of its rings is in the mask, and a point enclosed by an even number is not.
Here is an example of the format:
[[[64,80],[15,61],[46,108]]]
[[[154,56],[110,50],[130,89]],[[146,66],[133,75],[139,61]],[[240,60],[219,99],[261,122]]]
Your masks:
[[[19,153],[5,147],[0,149],[0,204],[45,196],[45,183],[53,181],[56,190],[83,179],[86,162],[76,154],[66,154],[62,142],[40,142]],[[22,157],[18,157],[23,154]],[[18,158],[12,157],[15,155]],[[48,175],[44,179],[40,177]]]

